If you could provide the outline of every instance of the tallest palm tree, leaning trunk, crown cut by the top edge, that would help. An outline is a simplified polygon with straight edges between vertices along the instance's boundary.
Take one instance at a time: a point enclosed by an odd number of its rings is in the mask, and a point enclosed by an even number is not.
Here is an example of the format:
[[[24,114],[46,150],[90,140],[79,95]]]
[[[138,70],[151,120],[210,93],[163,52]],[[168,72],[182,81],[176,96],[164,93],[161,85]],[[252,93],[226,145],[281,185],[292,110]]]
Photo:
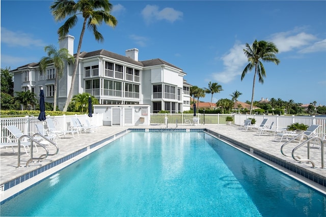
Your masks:
[[[118,21],[114,16],[110,14],[112,4],[109,3],[108,0],[80,0],[76,3],[72,0],[57,0],[55,3],[53,3],[53,5],[50,6],[50,9],[56,21],[62,21],[66,17],[69,17],[66,22],[58,29],[58,35],[60,39],[64,38],[69,33],[69,29],[76,25],[79,14],[82,14],[84,18],[82,32],[79,36],[74,70],[71,77],[71,86],[65,107],[63,109],[63,111],[67,111],[74,88],[74,82],[79,63],[80,48],[82,47],[86,24],[87,28],[90,29],[93,33],[95,40],[102,42],[104,38],[102,34],[98,32],[97,25],[102,24],[104,21],[105,24],[115,27]]]

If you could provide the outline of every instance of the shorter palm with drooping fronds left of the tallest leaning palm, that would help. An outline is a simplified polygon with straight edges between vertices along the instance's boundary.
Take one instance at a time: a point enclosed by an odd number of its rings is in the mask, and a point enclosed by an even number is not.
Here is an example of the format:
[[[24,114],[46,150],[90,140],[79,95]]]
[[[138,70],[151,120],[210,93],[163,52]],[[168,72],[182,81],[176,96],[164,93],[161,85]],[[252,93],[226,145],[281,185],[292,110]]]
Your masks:
[[[49,65],[53,65],[56,68],[56,81],[53,90],[55,92],[53,96],[53,111],[56,111],[58,81],[63,75],[65,61],[67,61],[67,63],[69,64],[69,61],[73,61],[74,58],[72,55],[69,54],[69,51],[66,48],[61,48],[60,50],[57,50],[55,46],[48,45],[44,47],[44,51],[47,53],[47,56],[43,56],[40,60],[40,73],[45,73],[46,68]]]

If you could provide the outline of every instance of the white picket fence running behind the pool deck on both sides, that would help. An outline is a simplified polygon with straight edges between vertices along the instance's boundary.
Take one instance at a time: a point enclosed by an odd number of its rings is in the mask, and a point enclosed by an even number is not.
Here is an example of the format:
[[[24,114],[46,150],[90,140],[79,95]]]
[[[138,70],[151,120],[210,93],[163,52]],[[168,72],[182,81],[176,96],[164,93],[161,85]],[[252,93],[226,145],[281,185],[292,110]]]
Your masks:
[[[85,115],[62,115],[62,116],[47,116],[46,118],[52,118],[55,122],[57,129],[67,130],[70,126],[70,117],[77,116],[80,121],[86,122],[86,119],[90,120],[92,125],[102,126],[103,125],[103,114],[93,114],[90,118]],[[287,128],[287,126],[293,123],[303,123],[304,125],[320,125],[317,129],[318,134],[326,135],[326,117],[319,116],[279,116],[279,115],[248,115],[248,114],[151,114],[150,123],[151,125],[164,125],[167,119],[168,124],[185,125],[190,122],[194,122],[194,118],[198,118],[200,125],[225,125],[226,117],[233,117],[234,125],[243,125],[244,120],[248,118],[255,118],[256,124],[259,125],[264,118],[267,118],[267,125],[274,122],[274,126],[278,129]],[[167,117],[167,118],[166,118]],[[187,123],[186,123],[187,122]],[[43,123],[47,128],[45,121],[39,121],[37,117],[25,116],[25,117],[12,117],[12,118],[1,118],[1,142],[4,142],[4,137],[10,135],[10,132],[6,129],[6,126],[15,125],[20,129],[21,132],[37,132],[36,124]]]

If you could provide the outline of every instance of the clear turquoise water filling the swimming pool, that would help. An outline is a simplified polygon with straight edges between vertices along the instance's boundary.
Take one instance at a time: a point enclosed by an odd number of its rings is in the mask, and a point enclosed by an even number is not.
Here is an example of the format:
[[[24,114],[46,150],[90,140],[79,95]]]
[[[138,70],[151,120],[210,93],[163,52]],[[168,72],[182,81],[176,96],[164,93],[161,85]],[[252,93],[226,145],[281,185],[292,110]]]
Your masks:
[[[326,216],[326,197],[203,132],[131,132],[2,216]]]

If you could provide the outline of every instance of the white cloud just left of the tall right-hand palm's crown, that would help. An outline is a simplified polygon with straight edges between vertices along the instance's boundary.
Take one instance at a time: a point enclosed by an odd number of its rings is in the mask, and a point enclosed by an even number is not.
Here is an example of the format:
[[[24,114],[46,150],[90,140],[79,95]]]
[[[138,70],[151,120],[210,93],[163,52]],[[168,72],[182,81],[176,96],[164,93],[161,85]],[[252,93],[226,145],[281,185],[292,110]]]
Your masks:
[[[245,47],[245,45],[236,43],[229,52],[221,58],[223,60],[224,71],[212,73],[214,80],[221,83],[229,83],[234,80],[235,77],[242,74],[244,65],[248,61],[246,55],[243,54],[243,49]]]

